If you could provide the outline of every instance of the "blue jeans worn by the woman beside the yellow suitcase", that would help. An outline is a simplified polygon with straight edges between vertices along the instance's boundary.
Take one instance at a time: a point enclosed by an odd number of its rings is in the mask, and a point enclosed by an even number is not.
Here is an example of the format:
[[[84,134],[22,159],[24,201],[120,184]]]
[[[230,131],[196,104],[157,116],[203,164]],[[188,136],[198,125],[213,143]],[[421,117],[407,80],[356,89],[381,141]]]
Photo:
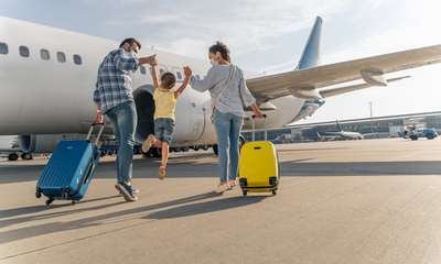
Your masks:
[[[244,118],[214,109],[213,120],[218,148],[219,180],[234,180],[239,166],[239,134]]]

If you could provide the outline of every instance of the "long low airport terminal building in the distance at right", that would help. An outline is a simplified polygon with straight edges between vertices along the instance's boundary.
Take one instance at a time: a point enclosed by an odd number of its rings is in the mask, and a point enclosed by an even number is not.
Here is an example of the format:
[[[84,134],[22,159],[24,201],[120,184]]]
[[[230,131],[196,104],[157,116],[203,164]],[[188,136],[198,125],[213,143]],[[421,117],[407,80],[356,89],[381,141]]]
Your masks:
[[[346,132],[358,132],[365,139],[397,138],[406,123],[426,123],[426,128],[434,129],[441,133],[441,111],[389,117],[338,120]],[[299,143],[309,141],[323,141],[326,132],[337,131],[336,121],[286,125],[280,129],[269,130],[268,140],[273,143]],[[251,132],[243,132],[246,142],[251,141]],[[256,140],[263,140],[263,131],[256,131]]]

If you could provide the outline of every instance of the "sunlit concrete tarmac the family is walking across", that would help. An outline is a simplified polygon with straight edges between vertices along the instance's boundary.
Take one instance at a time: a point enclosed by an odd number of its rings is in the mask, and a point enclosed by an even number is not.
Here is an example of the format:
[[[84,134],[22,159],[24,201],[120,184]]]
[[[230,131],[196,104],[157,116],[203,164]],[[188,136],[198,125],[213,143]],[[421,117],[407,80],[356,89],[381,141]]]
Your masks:
[[[278,144],[271,193],[216,195],[213,151],[105,156],[76,205],[35,197],[47,160],[0,162],[0,263],[441,263],[441,139]]]

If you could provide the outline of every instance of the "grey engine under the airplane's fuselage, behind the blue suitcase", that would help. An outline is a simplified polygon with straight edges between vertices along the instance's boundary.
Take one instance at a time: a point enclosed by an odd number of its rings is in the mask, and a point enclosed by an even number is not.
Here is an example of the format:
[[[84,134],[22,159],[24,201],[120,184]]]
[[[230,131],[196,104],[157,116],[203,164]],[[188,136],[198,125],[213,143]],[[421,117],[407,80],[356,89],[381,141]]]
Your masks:
[[[19,145],[24,153],[52,153],[63,140],[85,139],[83,134],[19,135]]]

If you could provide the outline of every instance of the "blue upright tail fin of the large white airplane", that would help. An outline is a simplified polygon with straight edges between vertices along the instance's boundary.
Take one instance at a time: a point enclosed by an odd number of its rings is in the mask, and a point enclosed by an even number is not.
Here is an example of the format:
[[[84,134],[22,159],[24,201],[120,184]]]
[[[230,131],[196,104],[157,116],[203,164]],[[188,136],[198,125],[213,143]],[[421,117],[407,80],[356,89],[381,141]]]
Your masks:
[[[316,16],[314,26],[311,30],[306,45],[295,69],[310,68],[321,65],[322,48],[322,24],[323,20]]]

